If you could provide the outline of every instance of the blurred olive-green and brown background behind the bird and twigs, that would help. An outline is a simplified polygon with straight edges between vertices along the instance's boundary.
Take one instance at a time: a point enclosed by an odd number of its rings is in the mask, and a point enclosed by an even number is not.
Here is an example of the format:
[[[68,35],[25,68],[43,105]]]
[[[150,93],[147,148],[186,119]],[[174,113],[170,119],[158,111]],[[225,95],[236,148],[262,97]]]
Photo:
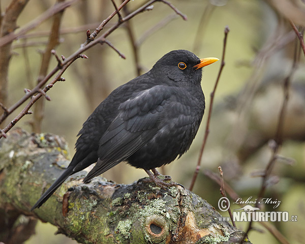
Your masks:
[[[5,12],[11,1],[1,1]],[[122,15],[135,10],[146,1],[131,1]],[[242,199],[253,199],[261,188],[261,170],[265,169],[275,139],[281,107],[284,101],[284,80],[290,78],[289,100],[283,125],[283,145],[271,172],[265,197],[281,201],[277,211],[297,215],[297,222],[271,223],[290,243],[303,243],[305,238],[305,69],[300,50],[297,69],[290,74],[295,46],[299,40],[289,19],[299,27],[305,26],[305,3],[302,0],[171,0],[178,10],[186,14],[187,21],[176,15],[162,2],[151,11],[135,16],[128,24],[116,29],[107,39],[122,53],[120,58],[107,45],[96,45],[86,51],[88,59],[78,59],[68,68],[64,82],[57,82],[47,93],[52,101],[43,99],[42,108],[33,107],[17,126],[29,132],[54,133],[64,136],[74,154],[76,135],[87,116],[117,86],[148,71],[165,53],[174,49],[187,49],[200,58],[221,58],[224,28],[229,26],[225,67],[218,85],[214,110],[210,121],[201,169],[193,191],[217,210],[221,194],[219,185],[211,179],[222,166],[224,178]],[[20,14],[17,25],[22,27],[56,1],[32,0]],[[120,5],[121,1],[115,1]],[[64,12],[60,25],[58,56],[68,57],[86,40],[91,32],[113,12],[110,0],[78,1]],[[117,21],[115,16],[102,33]],[[52,18],[13,42],[13,56],[8,75],[10,107],[23,95],[24,88],[33,88],[39,77],[42,52],[49,38]],[[18,29],[17,29],[18,32]],[[48,71],[57,65],[52,56]],[[214,87],[221,62],[204,68],[202,89],[206,97],[206,112],[199,132],[190,150],[179,160],[161,169],[179,184],[189,188],[196,168],[204,137],[210,93]],[[1,125],[4,128],[23,108],[21,106]],[[36,112],[35,112],[36,111]],[[37,114],[43,114],[41,123]],[[120,184],[131,184],[146,177],[144,170],[121,163],[104,173],[107,179]],[[234,202],[234,199],[231,203]],[[232,206],[232,204],[231,204]],[[239,208],[233,204],[232,209]],[[271,210],[266,204],[265,210]],[[271,209],[270,209],[271,208]],[[221,212],[227,216],[227,213]],[[237,227],[246,230],[247,223]],[[279,243],[266,228],[254,223],[249,233],[253,243]],[[36,235],[26,244],[76,243],[59,234],[50,224],[39,223]],[[282,242],[288,243],[288,242]]]

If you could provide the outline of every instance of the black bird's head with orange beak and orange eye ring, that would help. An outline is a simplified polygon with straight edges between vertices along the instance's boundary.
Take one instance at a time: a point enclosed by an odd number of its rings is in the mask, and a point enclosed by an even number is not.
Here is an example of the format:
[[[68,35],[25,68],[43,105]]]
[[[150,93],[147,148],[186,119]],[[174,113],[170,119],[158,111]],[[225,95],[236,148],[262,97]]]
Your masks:
[[[154,66],[154,73],[167,76],[174,81],[200,83],[201,68],[215,63],[216,57],[200,59],[187,50],[174,50],[161,57]]]

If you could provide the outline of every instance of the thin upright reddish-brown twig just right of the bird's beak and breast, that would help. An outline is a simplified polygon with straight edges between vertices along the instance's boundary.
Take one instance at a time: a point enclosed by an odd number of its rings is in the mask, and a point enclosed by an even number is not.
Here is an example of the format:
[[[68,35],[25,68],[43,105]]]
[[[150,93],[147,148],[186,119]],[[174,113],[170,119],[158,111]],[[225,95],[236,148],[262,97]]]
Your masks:
[[[224,32],[225,32],[225,37],[224,37],[224,44],[223,44],[223,53],[222,53],[221,66],[220,66],[220,69],[219,69],[219,72],[218,72],[218,76],[217,76],[217,79],[216,79],[216,82],[215,82],[215,85],[214,85],[214,89],[212,90],[212,92],[211,92],[211,94],[210,94],[211,100],[210,100],[210,105],[209,105],[209,110],[208,110],[208,116],[207,116],[207,122],[206,122],[206,127],[205,127],[204,138],[203,138],[202,146],[201,146],[201,149],[200,149],[199,159],[198,159],[198,162],[197,162],[197,166],[196,166],[196,169],[195,169],[193,178],[192,178],[191,186],[190,186],[190,188],[189,188],[190,191],[193,190],[193,187],[194,187],[194,185],[195,185],[195,181],[196,181],[196,179],[197,179],[197,176],[198,176],[198,173],[199,173],[199,170],[200,170],[200,165],[201,165],[201,159],[202,159],[202,155],[203,155],[203,150],[204,150],[204,147],[205,147],[205,144],[206,144],[207,136],[208,136],[208,134],[209,134],[209,123],[210,123],[211,114],[212,114],[214,96],[215,96],[215,93],[216,93],[216,88],[217,88],[217,85],[218,85],[218,83],[219,83],[219,79],[220,79],[222,70],[223,70],[223,68],[224,68],[224,66],[225,66],[225,52],[226,52],[227,37],[228,37],[229,31],[230,31],[229,27],[226,26],[226,27],[225,27],[225,31],[224,31]]]

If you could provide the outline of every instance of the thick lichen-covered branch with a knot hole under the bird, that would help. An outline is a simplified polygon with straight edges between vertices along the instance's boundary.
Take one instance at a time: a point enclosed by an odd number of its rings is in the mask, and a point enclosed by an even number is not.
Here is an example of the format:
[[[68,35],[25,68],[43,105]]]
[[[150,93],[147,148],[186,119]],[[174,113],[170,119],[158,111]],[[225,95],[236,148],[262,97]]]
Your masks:
[[[12,130],[0,140],[0,241],[22,243],[37,219],[80,243],[241,243],[244,233],[194,193],[152,182],[118,185],[71,176],[39,209],[29,209],[69,164],[65,140]],[[248,238],[243,243],[250,243]]]

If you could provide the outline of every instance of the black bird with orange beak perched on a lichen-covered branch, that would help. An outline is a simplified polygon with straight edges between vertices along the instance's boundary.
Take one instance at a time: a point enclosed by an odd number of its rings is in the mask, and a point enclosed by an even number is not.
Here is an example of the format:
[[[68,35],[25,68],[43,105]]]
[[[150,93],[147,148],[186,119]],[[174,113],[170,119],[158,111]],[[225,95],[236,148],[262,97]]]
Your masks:
[[[171,163],[190,148],[205,108],[201,68],[217,60],[174,50],[147,73],[116,88],[87,118],[70,165],[32,210],[70,175],[95,162],[84,183],[127,161],[144,169],[157,185],[166,185],[157,178],[155,168]]]

